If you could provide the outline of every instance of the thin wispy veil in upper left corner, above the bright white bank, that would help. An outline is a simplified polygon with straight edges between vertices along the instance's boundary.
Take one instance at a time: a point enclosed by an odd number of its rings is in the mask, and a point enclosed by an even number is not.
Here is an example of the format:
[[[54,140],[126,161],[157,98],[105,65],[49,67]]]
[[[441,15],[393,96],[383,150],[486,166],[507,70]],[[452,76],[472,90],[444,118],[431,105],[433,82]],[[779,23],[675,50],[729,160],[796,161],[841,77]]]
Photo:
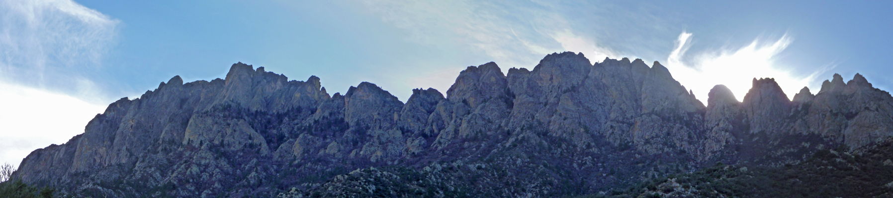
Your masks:
[[[71,94],[95,91],[83,74],[99,68],[120,23],[71,0],[0,0],[0,21],[0,80]]]

